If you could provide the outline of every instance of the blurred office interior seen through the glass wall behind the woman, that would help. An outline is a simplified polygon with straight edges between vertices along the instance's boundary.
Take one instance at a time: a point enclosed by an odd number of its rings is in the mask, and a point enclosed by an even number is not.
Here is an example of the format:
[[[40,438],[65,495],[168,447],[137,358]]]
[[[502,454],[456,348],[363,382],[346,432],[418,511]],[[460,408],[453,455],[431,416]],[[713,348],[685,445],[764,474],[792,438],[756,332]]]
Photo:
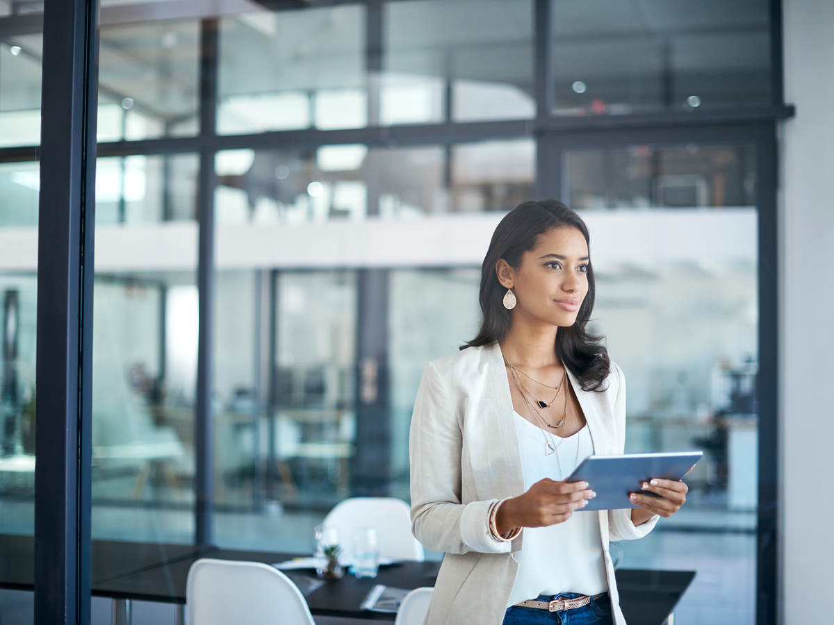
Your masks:
[[[199,419],[219,545],[304,551],[344,498],[408,501],[425,363],[474,336],[500,218],[555,197],[590,228],[626,451],[705,453],[621,566],[695,569],[681,625],[765,622],[779,6],[101,0],[93,538],[194,540]],[[28,535],[41,11],[0,0],[0,531]],[[31,622],[31,593],[2,594]]]

